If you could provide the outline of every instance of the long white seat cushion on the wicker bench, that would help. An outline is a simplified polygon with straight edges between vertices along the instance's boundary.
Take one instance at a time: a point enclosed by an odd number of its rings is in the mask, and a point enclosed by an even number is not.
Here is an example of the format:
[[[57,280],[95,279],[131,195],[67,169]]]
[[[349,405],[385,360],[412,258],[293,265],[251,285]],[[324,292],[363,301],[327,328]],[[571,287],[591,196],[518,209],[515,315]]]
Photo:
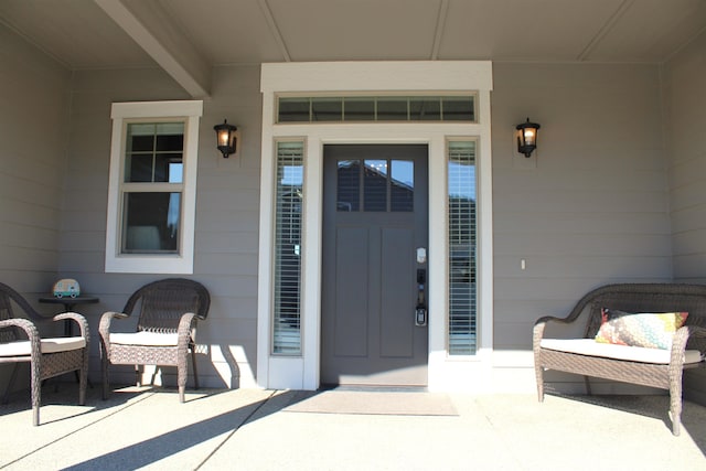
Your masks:
[[[542,339],[539,345],[559,352],[664,365],[670,363],[671,356],[670,350],[599,343],[593,339]],[[703,360],[698,350],[687,350],[684,356],[684,363],[698,363]]]

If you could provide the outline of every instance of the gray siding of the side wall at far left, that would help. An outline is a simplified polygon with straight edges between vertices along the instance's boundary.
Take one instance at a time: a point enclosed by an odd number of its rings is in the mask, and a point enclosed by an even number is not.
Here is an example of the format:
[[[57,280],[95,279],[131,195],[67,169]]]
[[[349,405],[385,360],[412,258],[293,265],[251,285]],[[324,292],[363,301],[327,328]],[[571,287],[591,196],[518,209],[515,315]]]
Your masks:
[[[0,281],[41,312],[56,279],[71,74],[0,24]],[[54,333],[41,324],[43,334]],[[6,385],[10,367],[0,368]],[[15,388],[26,387],[21,375]]]

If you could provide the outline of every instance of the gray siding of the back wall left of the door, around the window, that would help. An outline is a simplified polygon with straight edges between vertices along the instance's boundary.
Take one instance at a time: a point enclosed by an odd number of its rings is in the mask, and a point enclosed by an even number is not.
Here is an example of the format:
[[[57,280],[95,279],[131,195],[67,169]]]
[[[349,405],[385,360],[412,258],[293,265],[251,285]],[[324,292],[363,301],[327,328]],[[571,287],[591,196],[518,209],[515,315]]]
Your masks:
[[[200,323],[200,379],[206,386],[234,387],[256,370],[257,250],[259,227],[259,67],[216,67],[213,94],[204,101],[199,144],[194,274],[210,290],[208,319]],[[75,74],[66,196],[62,217],[62,276],[79,279],[100,298],[86,306],[92,329],[100,313],[120,310],[139,286],[170,275],[105,274],[105,227],[113,101],[188,99],[158,69],[82,71]],[[223,159],[213,126],[228,119],[242,132],[239,157]],[[130,330],[135,321],[118,323]],[[94,332],[97,335],[97,332]],[[97,336],[94,336],[97,339]],[[90,374],[99,375],[97,342]],[[223,352],[237,352],[237,354]],[[229,373],[223,373],[229,372]],[[116,381],[132,382],[130,368]],[[174,372],[165,368],[165,381]]]

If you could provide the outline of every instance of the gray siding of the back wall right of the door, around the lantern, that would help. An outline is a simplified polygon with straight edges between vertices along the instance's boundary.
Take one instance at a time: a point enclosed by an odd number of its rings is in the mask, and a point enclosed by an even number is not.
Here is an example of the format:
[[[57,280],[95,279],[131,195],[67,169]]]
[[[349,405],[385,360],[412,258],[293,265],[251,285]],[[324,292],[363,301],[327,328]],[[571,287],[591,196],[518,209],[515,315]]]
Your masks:
[[[530,352],[534,321],[566,315],[590,289],[672,278],[660,71],[493,71],[494,346]],[[542,125],[531,159],[513,136],[527,116]]]

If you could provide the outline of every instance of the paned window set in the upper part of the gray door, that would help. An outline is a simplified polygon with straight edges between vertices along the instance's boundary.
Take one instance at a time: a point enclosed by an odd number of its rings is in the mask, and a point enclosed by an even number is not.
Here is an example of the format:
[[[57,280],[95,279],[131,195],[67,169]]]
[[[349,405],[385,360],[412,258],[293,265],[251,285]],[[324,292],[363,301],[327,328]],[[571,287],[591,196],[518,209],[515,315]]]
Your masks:
[[[409,160],[338,162],[339,212],[414,211],[415,167]]]

